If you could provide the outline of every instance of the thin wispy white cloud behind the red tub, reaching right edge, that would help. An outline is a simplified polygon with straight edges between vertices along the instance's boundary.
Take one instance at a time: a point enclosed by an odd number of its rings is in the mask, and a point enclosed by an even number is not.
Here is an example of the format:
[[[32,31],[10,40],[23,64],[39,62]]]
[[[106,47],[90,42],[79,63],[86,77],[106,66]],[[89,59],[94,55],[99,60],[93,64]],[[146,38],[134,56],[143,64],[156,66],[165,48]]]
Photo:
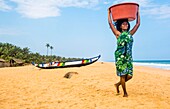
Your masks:
[[[140,12],[145,15],[156,19],[170,18],[170,5],[156,4],[153,0],[116,0],[113,4],[123,2],[135,2],[140,6]]]

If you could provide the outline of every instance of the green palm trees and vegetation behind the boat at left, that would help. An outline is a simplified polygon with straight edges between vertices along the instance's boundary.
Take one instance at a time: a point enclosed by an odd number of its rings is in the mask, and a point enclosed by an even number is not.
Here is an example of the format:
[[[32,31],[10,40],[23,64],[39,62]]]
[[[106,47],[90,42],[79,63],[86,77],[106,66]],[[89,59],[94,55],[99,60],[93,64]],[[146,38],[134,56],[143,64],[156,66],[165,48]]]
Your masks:
[[[28,47],[20,48],[18,46],[9,44],[9,43],[1,43],[0,42],[0,58],[9,62],[11,59],[21,59],[25,63],[41,63],[41,62],[51,62],[51,61],[72,61],[79,60],[79,58],[65,58],[60,56],[52,55],[53,47],[49,44],[47,47],[47,55],[41,55],[39,53],[32,53]],[[51,56],[48,56],[48,47],[51,49]]]

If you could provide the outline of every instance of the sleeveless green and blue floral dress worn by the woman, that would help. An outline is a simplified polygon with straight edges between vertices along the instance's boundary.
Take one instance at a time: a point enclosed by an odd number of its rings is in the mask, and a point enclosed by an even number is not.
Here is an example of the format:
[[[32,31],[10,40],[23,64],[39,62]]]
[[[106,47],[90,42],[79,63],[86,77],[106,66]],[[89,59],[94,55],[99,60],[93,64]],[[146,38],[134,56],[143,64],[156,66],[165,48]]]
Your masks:
[[[132,35],[129,32],[122,32],[117,39],[117,49],[115,51],[116,70],[118,76],[126,74],[133,76],[132,45]]]

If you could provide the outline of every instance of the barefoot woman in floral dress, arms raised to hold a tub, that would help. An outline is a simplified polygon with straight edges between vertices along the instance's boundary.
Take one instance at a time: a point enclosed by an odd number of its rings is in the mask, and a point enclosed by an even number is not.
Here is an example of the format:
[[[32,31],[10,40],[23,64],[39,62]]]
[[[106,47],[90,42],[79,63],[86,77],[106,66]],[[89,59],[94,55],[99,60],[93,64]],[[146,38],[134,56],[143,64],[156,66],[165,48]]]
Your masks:
[[[138,27],[140,26],[140,15],[139,11],[137,12],[136,25],[132,30],[130,29],[130,24],[128,19],[120,19],[115,23],[116,28],[114,27],[111,17],[110,10],[108,11],[108,22],[110,28],[114,35],[117,38],[117,49],[115,51],[115,60],[116,60],[116,70],[117,75],[120,76],[120,81],[115,84],[117,94],[119,94],[119,86],[122,85],[124,95],[123,97],[128,97],[126,92],[126,84],[133,76],[133,64],[132,64],[132,44],[133,37]]]

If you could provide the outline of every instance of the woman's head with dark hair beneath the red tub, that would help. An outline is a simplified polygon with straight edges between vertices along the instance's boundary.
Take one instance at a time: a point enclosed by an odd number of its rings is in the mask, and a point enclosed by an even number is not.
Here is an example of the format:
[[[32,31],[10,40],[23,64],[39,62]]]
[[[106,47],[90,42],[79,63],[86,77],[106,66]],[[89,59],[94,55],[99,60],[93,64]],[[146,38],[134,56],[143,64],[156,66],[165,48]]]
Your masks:
[[[129,31],[130,23],[128,22],[128,19],[119,19],[119,20],[117,20],[116,28],[120,32]]]

